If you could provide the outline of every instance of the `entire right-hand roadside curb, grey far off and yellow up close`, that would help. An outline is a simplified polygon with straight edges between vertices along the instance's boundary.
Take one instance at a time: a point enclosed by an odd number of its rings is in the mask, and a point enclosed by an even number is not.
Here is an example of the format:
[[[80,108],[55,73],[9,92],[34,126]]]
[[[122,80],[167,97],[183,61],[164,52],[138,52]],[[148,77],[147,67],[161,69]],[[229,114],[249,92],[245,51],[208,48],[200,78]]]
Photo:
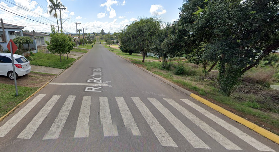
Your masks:
[[[119,57],[121,57],[121,56],[119,56]],[[121,57],[121,58],[123,58],[123,57]],[[126,58],[123,58],[123,59],[125,59],[126,61],[132,63],[131,61],[129,61]],[[210,108],[220,112],[221,114],[224,114],[225,116],[229,117],[230,119],[233,119],[234,121],[237,121],[238,123],[245,125],[246,127],[248,127],[250,129],[254,130],[255,132],[257,132],[258,134],[261,134],[262,136],[264,136],[264,137],[270,139],[271,141],[279,144],[279,136],[278,135],[276,135],[276,134],[274,134],[274,133],[272,133],[272,132],[270,132],[270,131],[268,131],[268,130],[266,130],[266,129],[264,129],[264,128],[254,124],[254,123],[252,123],[252,122],[250,122],[250,121],[248,121],[248,120],[246,120],[246,119],[244,119],[244,118],[242,118],[242,117],[240,117],[238,115],[236,115],[236,114],[233,114],[232,112],[229,112],[228,110],[226,110],[226,109],[224,109],[224,108],[222,108],[222,107],[220,107],[220,106],[218,106],[216,104],[213,104],[212,102],[210,102],[210,101],[208,101],[206,99],[203,99],[202,97],[200,97],[200,96],[198,96],[196,94],[193,94],[193,93],[191,93],[190,91],[188,91],[186,89],[183,89],[183,88],[177,86],[176,84],[171,83],[170,81],[168,81],[168,80],[166,80],[166,79],[164,79],[164,78],[162,78],[162,77],[160,77],[160,76],[158,76],[158,75],[156,75],[156,74],[146,70],[145,68],[139,67],[139,66],[135,65],[134,63],[132,63],[132,64],[134,66],[142,69],[143,71],[151,74],[152,76],[154,76],[154,77],[164,81],[166,84],[169,84],[173,88],[180,90],[181,92],[191,96],[192,98],[196,99],[197,101],[207,105],[208,107],[210,107]]]

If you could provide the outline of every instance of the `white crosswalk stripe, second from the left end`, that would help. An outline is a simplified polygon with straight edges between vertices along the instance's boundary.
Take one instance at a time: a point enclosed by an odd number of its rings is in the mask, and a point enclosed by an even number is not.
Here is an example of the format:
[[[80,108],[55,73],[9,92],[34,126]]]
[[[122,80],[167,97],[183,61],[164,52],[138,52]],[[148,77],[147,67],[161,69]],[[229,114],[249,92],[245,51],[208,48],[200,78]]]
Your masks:
[[[32,121],[25,127],[25,129],[18,135],[19,139],[30,139],[39,125],[43,122],[47,114],[50,112],[52,107],[55,105],[61,95],[53,95],[52,98],[45,104],[40,112],[32,119]]]

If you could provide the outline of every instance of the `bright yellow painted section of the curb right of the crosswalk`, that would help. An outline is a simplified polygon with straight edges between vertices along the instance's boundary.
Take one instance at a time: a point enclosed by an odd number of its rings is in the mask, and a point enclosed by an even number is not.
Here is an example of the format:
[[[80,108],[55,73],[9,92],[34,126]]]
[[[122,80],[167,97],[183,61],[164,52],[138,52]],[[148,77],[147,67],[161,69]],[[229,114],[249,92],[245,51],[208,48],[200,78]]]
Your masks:
[[[236,115],[236,114],[233,114],[232,112],[229,112],[228,110],[216,105],[216,104],[213,104],[212,102],[206,100],[206,99],[203,99],[202,97],[196,95],[196,94],[190,94],[191,97],[197,99],[198,101],[200,101],[201,103],[207,105],[208,107],[211,107],[212,109],[215,109],[217,110],[218,112],[220,112],[221,114],[224,114],[225,116],[229,117],[230,119],[233,119],[234,121],[237,121],[239,122],[240,124],[243,124],[245,125],[246,127],[254,130],[255,132],[261,134],[262,136],[265,136],[266,138],[272,140],[273,142],[279,144],[279,136],[276,135],[276,134],[273,134],[272,132],[254,124],[254,123],[251,123],[250,121],[244,119],[244,118],[241,118],[240,116]]]

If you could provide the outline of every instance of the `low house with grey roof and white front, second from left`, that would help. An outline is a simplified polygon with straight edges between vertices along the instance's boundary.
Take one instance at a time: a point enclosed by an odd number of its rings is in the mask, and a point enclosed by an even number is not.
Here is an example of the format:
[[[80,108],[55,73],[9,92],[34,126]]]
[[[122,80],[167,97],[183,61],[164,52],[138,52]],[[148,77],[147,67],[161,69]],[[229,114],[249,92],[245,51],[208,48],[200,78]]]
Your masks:
[[[46,45],[45,41],[50,42],[50,35],[49,34],[45,34],[45,33],[41,33],[41,32],[22,32],[23,36],[29,36],[31,39],[34,38],[37,41],[37,46],[39,45]]]

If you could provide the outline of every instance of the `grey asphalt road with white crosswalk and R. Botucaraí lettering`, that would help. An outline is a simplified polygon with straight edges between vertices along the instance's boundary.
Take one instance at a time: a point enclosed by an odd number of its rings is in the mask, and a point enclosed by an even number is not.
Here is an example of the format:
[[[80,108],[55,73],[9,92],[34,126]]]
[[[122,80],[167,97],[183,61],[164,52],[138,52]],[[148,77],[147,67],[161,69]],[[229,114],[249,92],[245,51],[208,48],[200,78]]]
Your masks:
[[[279,146],[95,44],[0,122],[0,151],[279,152]]]

